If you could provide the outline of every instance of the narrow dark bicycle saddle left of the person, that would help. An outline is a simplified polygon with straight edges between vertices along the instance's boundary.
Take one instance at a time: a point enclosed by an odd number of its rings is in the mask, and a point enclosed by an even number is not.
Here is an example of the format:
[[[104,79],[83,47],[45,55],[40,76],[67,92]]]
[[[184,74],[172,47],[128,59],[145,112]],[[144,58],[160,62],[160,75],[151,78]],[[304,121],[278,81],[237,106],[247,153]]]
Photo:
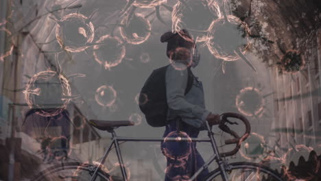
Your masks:
[[[132,121],[103,121],[103,120],[95,120],[91,119],[89,120],[89,123],[93,125],[93,127],[97,128],[98,130],[113,130],[114,128],[120,127],[120,126],[128,126],[128,125],[134,125],[134,122]]]

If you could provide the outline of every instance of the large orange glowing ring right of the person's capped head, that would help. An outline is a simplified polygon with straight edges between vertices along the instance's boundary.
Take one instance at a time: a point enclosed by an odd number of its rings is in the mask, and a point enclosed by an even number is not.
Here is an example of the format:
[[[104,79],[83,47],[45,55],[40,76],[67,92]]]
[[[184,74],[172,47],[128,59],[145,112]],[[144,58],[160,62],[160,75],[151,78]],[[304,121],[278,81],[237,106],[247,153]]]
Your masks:
[[[215,58],[225,61],[235,61],[240,57],[235,50],[241,49],[246,53],[250,43],[248,36],[250,29],[237,16],[228,15],[228,22],[224,17],[213,21],[209,27],[206,45]]]

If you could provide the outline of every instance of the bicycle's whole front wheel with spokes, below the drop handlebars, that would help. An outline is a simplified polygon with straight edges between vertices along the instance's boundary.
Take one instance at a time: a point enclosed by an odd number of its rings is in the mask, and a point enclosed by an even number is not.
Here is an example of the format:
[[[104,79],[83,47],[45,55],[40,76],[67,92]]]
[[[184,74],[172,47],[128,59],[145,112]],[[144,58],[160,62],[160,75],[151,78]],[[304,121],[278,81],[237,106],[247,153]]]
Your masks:
[[[235,162],[229,164],[230,170],[226,171],[226,181],[284,181],[272,169],[251,162]],[[215,169],[205,179],[206,181],[224,181],[220,169]]]

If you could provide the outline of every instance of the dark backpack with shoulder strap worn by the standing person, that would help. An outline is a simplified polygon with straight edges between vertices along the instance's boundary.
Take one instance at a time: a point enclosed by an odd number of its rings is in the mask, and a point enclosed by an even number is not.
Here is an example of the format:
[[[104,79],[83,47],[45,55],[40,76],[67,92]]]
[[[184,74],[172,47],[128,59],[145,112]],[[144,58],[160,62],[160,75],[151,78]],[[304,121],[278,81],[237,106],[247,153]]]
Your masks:
[[[165,73],[169,65],[155,69],[147,78],[139,95],[139,108],[145,114],[147,123],[152,127],[163,127],[166,124],[168,106]],[[193,85],[193,73],[190,68],[187,70],[188,79],[185,95]]]

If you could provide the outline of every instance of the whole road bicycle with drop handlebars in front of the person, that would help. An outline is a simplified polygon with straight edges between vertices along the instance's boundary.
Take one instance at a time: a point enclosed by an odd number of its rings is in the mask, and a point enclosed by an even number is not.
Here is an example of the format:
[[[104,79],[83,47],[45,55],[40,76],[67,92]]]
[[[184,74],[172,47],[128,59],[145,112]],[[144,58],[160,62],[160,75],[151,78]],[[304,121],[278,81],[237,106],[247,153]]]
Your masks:
[[[219,153],[217,144],[215,142],[214,134],[211,130],[209,123],[206,121],[206,127],[209,138],[179,138],[179,141],[196,141],[196,142],[209,142],[213,147],[213,156],[209,158],[205,162],[205,164],[195,172],[193,176],[189,178],[189,181],[194,180],[202,170],[206,169],[211,165],[211,163],[215,160],[217,162],[218,168],[214,171],[211,171],[209,175],[206,177],[204,181],[229,181],[229,180],[276,180],[283,181],[281,176],[278,175],[276,171],[266,167],[265,165],[259,165],[257,163],[252,162],[233,162],[228,163],[226,160],[222,158],[226,156],[233,156],[237,154],[239,148],[241,147],[241,142],[246,140],[250,134],[250,123],[243,117],[241,114],[227,112],[221,115],[222,119],[219,123],[219,128],[233,136],[234,138],[228,139],[225,141],[226,145],[236,144],[235,149],[230,152]],[[246,132],[243,136],[239,136],[233,130],[228,128],[227,123],[229,124],[238,124],[237,122],[232,122],[228,120],[228,118],[236,118],[241,120],[246,125]],[[126,168],[123,165],[123,158],[121,156],[121,149],[119,147],[119,141],[164,141],[165,138],[131,138],[131,137],[119,137],[115,133],[115,128],[119,128],[121,126],[130,126],[134,125],[131,121],[99,121],[99,120],[90,120],[89,123],[93,125],[95,128],[99,130],[104,130],[110,132],[112,134],[112,143],[110,143],[108,149],[106,150],[102,160],[97,165],[89,165],[80,162],[67,162],[58,165],[54,165],[49,167],[45,171],[41,171],[38,176],[34,179],[38,180],[60,180],[70,179],[70,180],[108,180],[115,181],[115,178],[112,178],[106,171],[104,170],[104,162],[112,149],[112,145],[115,145],[115,150],[117,154],[117,158],[119,161],[122,179],[128,181],[128,173],[126,173]],[[177,138],[166,138],[167,141],[178,141]],[[60,173],[61,172],[61,173]]]

